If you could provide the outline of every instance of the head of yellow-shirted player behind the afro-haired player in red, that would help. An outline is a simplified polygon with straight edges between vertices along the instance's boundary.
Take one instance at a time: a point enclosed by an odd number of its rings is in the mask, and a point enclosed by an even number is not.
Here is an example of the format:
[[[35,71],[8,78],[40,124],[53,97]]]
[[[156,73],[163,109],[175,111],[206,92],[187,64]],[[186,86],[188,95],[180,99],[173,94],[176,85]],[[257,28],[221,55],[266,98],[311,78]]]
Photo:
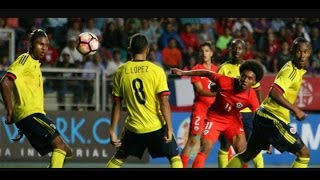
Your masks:
[[[234,39],[230,44],[230,53],[232,61],[242,61],[246,52],[246,43],[242,39]]]

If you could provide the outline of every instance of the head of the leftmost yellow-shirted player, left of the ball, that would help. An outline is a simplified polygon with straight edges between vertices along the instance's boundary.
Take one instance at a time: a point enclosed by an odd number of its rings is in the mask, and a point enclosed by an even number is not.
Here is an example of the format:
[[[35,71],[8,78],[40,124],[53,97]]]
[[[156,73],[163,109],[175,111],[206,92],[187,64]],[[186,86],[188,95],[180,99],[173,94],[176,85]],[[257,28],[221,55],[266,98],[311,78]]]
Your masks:
[[[42,59],[49,47],[47,34],[42,29],[33,30],[30,34],[30,49],[29,53],[34,59]]]

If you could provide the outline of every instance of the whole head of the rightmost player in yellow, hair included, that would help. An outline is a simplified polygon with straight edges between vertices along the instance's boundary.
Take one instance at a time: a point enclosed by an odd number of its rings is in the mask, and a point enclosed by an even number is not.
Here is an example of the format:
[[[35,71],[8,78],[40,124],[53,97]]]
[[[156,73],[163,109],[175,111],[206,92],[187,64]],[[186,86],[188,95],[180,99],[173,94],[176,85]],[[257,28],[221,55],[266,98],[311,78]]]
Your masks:
[[[306,68],[309,57],[312,54],[312,47],[309,41],[305,38],[296,38],[291,46],[291,53],[293,55],[293,63],[299,68]]]

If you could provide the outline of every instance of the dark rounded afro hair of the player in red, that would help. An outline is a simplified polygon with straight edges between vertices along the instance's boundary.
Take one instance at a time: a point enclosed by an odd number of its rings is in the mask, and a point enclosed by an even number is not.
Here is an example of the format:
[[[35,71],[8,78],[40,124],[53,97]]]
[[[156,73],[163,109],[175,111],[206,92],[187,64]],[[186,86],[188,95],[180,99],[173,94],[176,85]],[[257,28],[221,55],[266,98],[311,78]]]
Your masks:
[[[256,75],[256,82],[260,82],[263,78],[264,71],[262,65],[255,60],[247,60],[242,63],[240,66],[240,74],[244,71],[252,71]]]

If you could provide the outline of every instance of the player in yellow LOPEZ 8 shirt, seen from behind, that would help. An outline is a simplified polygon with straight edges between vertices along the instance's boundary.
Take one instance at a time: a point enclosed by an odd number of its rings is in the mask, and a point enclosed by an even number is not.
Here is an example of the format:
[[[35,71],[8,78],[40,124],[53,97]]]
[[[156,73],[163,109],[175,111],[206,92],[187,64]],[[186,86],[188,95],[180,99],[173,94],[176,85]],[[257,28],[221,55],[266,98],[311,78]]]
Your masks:
[[[172,130],[166,74],[160,66],[146,60],[149,48],[143,34],[131,37],[128,51],[132,59],[120,66],[113,77],[110,138],[118,150],[107,167],[121,167],[129,155],[141,159],[148,148],[152,158],[166,157],[172,168],[182,168]],[[116,127],[122,99],[128,113],[120,140]]]

